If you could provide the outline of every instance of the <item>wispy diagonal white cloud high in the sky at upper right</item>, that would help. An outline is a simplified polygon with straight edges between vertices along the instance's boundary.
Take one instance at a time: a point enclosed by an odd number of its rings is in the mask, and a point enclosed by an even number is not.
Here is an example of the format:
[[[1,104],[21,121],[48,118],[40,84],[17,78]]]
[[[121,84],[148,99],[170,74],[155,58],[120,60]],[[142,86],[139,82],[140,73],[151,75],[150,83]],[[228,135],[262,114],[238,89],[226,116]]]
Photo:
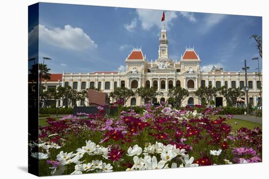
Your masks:
[[[220,23],[226,17],[225,14],[208,14],[202,20],[202,27],[199,28],[200,33],[206,34],[209,32],[215,25]]]

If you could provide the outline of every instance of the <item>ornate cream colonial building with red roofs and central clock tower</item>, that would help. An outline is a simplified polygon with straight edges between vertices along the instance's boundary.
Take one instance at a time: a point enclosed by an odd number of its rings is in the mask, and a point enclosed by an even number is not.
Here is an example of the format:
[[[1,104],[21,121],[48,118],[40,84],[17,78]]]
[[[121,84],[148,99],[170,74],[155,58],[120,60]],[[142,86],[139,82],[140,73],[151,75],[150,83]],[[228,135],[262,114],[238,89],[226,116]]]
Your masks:
[[[189,97],[183,101],[186,104],[201,104],[194,92],[200,86],[212,85],[215,87],[227,86],[228,88],[244,88],[245,74],[239,72],[226,72],[222,68],[213,66],[211,72],[200,70],[201,59],[194,48],[186,48],[181,59],[169,58],[167,32],[161,30],[159,38],[158,59],[148,61],[141,48],[134,48],[125,59],[125,72],[97,71],[91,73],[65,73],[51,74],[50,80],[42,82],[45,86],[54,87],[70,85],[75,90],[85,90],[90,87],[101,89],[110,93],[115,87],[125,86],[136,90],[141,86],[156,86],[163,96],[157,96],[153,102],[166,101],[167,92],[173,86],[181,86],[189,91]],[[248,98],[253,106],[260,100],[260,81],[256,73],[248,73]],[[241,98],[245,101],[245,98]],[[114,102],[114,99],[111,99]],[[61,104],[60,104],[61,103]],[[63,101],[57,101],[57,106],[63,106]],[[129,99],[127,105],[140,105],[143,103],[137,94]],[[225,99],[218,95],[215,99],[216,106],[225,106]],[[77,105],[88,105],[85,100],[77,101]]]

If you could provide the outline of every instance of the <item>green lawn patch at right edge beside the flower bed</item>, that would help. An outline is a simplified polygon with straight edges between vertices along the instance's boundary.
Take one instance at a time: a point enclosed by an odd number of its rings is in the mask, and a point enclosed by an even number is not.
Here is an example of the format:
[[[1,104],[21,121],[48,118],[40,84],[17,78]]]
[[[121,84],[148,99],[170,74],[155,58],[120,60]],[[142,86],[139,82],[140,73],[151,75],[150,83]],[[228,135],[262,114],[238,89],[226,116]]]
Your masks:
[[[242,119],[226,119],[226,121],[224,122],[232,126],[232,131],[236,131],[240,129],[241,127],[246,127],[251,130],[253,130],[254,127],[262,128],[262,124],[260,123],[251,122],[251,121],[242,120]]]

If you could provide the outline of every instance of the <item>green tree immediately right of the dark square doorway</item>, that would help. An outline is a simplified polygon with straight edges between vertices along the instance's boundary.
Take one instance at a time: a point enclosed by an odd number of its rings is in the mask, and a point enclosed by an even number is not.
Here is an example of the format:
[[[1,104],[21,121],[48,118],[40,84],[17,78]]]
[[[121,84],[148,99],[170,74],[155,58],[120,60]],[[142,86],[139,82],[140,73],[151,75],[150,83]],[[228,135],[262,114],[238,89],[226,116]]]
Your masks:
[[[239,87],[233,89],[233,88],[226,88],[225,86],[223,86],[220,89],[220,95],[224,96],[227,106],[234,106],[236,104],[236,100],[239,97],[245,96],[245,92]]]

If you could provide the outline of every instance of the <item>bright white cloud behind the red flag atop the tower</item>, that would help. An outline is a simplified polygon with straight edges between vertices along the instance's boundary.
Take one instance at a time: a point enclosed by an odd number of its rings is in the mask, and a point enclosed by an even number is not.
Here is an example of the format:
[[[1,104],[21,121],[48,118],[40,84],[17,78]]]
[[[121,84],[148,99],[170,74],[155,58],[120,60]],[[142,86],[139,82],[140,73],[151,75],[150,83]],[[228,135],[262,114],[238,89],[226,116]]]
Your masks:
[[[136,14],[144,30],[150,30],[154,26],[161,28],[162,12],[162,10],[136,9]],[[178,15],[176,11],[165,11],[164,13],[166,29],[169,29],[173,25],[172,20],[176,19]]]

